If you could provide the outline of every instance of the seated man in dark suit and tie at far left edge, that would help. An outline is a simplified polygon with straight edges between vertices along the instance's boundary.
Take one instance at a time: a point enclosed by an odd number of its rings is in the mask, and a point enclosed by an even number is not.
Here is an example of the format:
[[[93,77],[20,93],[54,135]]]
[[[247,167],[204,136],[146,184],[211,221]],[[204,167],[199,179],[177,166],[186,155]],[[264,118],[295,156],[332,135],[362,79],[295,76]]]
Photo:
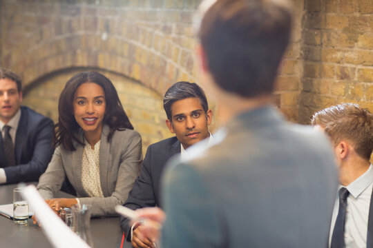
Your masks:
[[[0,68],[0,183],[37,181],[52,158],[53,122],[21,106],[21,85]]]

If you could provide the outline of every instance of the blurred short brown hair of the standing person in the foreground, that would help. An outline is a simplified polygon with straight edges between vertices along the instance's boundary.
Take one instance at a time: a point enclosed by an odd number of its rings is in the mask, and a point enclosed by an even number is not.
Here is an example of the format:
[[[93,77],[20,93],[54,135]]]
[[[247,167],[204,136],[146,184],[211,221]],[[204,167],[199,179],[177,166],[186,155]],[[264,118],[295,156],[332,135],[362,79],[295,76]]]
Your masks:
[[[244,97],[271,94],[291,34],[286,1],[218,0],[198,30],[218,86]]]

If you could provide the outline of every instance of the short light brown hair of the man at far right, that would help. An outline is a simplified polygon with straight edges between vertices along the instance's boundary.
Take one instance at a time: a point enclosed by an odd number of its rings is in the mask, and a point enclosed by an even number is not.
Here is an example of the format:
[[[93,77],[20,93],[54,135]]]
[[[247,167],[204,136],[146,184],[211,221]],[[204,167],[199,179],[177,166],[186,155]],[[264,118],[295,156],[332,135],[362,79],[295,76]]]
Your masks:
[[[341,103],[316,112],[311,123],[323,127],[334,146],[347,139],[359,156],[370,160],[373,151],[373,114],[369,110],[358,104]]]

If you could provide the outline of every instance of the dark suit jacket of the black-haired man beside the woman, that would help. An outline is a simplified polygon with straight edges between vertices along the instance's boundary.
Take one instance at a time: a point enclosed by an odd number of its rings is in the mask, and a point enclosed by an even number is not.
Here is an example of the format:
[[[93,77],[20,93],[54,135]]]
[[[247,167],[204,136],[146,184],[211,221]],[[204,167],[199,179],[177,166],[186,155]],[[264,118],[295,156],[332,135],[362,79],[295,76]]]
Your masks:
[[[164,165],[171,156],[178,153],[180,153],[180,141],[175,136],[150,145],[142,162],[140,176],[136,178],[124,206],[134,210],[160,206],[160,178]],[[131,231],[129,220],[121,217],[120,223],[129,240],[128,234]]]

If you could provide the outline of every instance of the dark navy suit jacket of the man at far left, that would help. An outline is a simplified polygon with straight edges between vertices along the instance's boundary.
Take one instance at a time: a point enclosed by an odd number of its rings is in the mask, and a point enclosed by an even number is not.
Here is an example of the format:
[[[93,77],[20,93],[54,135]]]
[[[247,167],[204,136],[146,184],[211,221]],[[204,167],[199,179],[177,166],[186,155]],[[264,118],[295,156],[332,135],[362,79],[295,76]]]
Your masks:
[[[0,159],[6,173],[6,183],[39,180],[52,158],[53,122],[29,107],[21,106],[21,118],[15,136],[15,166],[7,167]],[[0,135],[0,158],[4,158],[3,138]]]

